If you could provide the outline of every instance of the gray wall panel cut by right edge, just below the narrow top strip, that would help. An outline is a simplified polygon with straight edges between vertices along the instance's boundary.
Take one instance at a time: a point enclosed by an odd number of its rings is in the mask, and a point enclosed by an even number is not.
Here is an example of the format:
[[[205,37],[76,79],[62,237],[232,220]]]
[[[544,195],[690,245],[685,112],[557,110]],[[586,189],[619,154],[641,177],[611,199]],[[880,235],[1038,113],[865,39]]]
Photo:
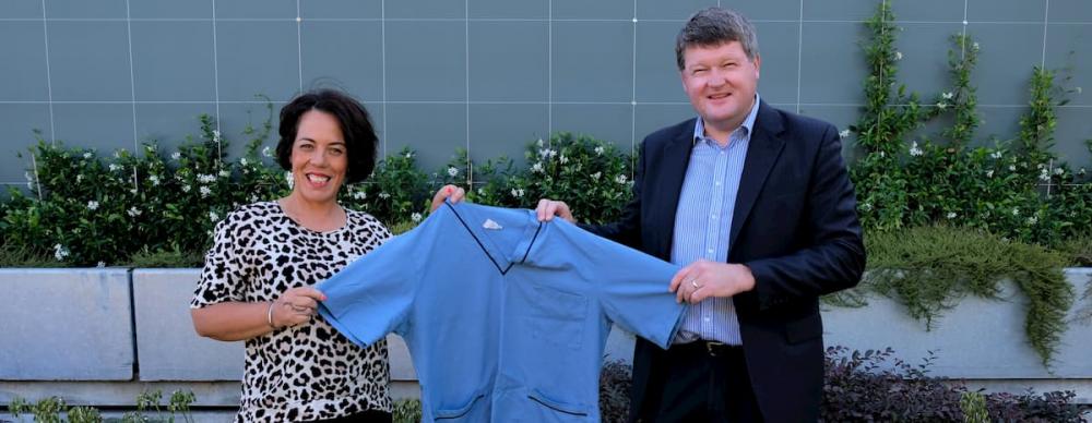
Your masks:
[[[1051,3],[1052,7],[1054,3]],[[1092,9],[1090,7],[1089,9]],[[1057,82],[1069,93],[1071,105],[1092,106],[1092,24],[1051,24],[1046,28],[1046,68],[1057,72]],[[1069,77],[1069,81],[1065,78]]]

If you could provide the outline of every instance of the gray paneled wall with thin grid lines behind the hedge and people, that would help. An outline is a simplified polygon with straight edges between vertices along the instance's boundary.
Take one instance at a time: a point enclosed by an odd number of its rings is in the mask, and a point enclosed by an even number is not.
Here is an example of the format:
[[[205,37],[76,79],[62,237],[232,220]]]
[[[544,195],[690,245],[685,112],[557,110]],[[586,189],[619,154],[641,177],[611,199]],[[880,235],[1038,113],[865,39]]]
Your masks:
[[[758,26],[762,97],[844,128],[863,101],[858,40],[879,0],[724,1]],[[632,146],[691,116],[672,44],[712,0],[3,0],[0,183],[25,186],[15,154],[48,141],[132,149],[179,144],[199,113],[239,132],[314,84],[363,99],[383,153],[426,168],[455,147],[521,156],[574,131]],[[1092,89],[1092,1],[901,0],[902,80],[927,97],[947,84],[948,37],[982,45],[981,136],[1017,133],[1033,65],[1072,67]],[[248,110],[253,110],[251,118]],[[1092,96],[1059,110],[1056,149],[1087,165]],[[25,155],[24,155],[25,156]]]

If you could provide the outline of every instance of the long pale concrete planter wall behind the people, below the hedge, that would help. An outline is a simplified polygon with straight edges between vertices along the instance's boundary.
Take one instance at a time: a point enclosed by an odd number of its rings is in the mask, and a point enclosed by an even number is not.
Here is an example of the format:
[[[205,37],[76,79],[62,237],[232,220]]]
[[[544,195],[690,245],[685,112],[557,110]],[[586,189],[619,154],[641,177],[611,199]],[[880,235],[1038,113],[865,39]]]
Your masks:
[[[0,289],[12,304],[0,307],[0,394],[20,380],[128,380],[215,386],[223,398],[205,404],[237,403],[233,392],[242,378],[242,342],[193,331],[188,304],[199,275],[198,269],[135,269],[131,275],[126,269],[0,269]],[[1092,268],[1066,275],[1080,297]],[[862,309],[823,310],[826,342],[856,350],[891,347],[912,365],[934,351],[929,368],[935,376],[1010,391],[1072,389],[1079,402],[1092,402],[1092,324],[1070,322],[1048,370],[1028,345],[1023,295],[1011,286],[1005,292],[1004,301],[963,299],[929,331],[886,298],[871,298]],[[1092,306],[1088,300],[1079,300],[1071,315],[1087,306]],[[397,396],[415,396],[416,374],[405,343],[393,335],[388,340]],[[631,334],[613,330],[605,355],[628,363],[632,348]]]

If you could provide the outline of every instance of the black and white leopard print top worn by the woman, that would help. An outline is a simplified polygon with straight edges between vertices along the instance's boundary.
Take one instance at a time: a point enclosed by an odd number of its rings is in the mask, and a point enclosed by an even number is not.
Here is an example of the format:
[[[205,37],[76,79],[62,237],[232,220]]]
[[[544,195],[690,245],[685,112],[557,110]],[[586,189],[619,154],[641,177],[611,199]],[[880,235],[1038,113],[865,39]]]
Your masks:
[[[289,288],[324,280],[391,237],[368,214],[345,210],[346,225],[317,232],[276,202],[240,207],[216,225],[191,309],[273,301]],[[246,341],[237,422],[334,419],[391,411],[387,342],[359,348],[321,316]]]

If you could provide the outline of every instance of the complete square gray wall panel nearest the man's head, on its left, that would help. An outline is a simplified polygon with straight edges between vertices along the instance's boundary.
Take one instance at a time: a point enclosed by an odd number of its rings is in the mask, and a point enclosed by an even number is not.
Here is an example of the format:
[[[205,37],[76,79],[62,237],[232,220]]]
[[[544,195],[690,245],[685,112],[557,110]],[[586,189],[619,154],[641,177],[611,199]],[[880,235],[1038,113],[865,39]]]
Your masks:
[[[632,22],[557,22],[553,56],[554,101],[632,100]]]

